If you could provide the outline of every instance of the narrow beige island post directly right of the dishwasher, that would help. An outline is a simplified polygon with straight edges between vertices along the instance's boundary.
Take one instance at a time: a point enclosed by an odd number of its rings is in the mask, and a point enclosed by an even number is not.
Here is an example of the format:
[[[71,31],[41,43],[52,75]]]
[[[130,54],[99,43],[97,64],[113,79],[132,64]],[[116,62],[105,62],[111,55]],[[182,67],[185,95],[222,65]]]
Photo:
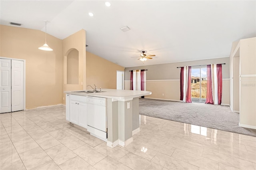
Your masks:
[[[108,141],[118,144],[118,101],[107,99]],[[115,144],[114,144],[115,145]]]

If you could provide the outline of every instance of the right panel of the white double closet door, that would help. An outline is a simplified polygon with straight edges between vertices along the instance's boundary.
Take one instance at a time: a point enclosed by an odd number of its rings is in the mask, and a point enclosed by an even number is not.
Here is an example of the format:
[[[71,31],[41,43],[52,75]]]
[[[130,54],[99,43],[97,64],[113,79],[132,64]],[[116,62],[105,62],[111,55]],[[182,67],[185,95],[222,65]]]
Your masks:
[[[24,110],[23,61],[12,59],[12,112]]]

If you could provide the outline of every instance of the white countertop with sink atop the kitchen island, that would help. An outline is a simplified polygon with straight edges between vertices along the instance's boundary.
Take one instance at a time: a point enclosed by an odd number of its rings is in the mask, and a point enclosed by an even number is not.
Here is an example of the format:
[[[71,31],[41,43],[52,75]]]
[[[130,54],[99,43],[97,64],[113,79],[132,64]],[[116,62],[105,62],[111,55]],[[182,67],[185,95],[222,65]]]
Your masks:
[[[82,91],[82,90],[78,90]],[[94,97],[104,97],[112,98],[118,100],[131,99],[134,97],[151,95],[151,91],[139,91],[139,90],[116,90],[116,89],[102,89],[102,92],[98,93],[79,93],[76,91],[64,91],[66,94],[70,95],[80,95],[80,96],[94,96]]]

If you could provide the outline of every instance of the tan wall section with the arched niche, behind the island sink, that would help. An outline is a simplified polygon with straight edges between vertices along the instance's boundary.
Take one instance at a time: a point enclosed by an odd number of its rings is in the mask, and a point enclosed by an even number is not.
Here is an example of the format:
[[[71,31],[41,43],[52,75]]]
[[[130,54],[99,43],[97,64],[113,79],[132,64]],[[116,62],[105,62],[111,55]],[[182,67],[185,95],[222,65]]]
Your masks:
[[[86,84],[86,49],[85,30],[80,30],[62,40],[62,104],[66,104],[64,91],[75,91],[85,89]],[[79,84],[67,84],[67,55],[76,49],[78,51],[78,74]]]

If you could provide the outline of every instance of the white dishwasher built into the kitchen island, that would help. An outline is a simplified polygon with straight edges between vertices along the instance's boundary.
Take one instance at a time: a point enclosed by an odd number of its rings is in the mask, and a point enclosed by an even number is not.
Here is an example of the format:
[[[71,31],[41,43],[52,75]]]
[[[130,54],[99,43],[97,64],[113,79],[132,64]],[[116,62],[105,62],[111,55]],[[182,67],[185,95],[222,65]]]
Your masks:
[[[107,140],[106,98],[87,96],[87,131],[104,141]]]

